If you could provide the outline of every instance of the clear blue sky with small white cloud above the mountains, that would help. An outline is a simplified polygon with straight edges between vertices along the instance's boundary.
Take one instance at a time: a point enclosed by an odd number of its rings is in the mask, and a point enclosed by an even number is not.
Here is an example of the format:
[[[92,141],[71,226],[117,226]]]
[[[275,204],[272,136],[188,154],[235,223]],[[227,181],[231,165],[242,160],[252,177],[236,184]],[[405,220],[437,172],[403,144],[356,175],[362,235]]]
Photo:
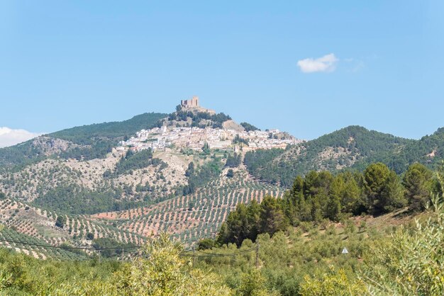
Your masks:
[[[211,1],[214,2],[214,1]],[[0,127],[53,132],[179,100],[313,139],[444,126],[444,1],[0,2]]]

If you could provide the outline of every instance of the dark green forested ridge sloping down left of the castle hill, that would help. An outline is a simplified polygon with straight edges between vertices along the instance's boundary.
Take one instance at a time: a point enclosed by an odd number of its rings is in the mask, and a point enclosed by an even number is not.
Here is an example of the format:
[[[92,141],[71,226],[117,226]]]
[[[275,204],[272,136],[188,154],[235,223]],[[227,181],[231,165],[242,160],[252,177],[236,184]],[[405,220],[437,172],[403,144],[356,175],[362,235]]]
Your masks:
[[[23,166],[48,156],[95,159],[106,155],[118,141],[131,137],[138,130],[154,127],[163,113],[144,113],[129,120],[72,127],[33,140],[0,149],[0,166]]]

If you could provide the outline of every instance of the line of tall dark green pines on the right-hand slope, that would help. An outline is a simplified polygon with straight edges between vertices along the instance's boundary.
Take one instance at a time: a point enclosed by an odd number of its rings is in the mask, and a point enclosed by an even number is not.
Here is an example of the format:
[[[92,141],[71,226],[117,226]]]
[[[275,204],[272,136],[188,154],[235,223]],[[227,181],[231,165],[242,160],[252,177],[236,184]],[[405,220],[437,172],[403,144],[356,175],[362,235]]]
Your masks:
[[[266,196],[261,203],[238,204],[221,225],[216,243],[240,246],[244,239],[255,241],[258,234],[272,235],[290,225],[377,216],[407,205],[423,210],[432,192],[442,194],[439,184],[422,164],[412,164],[402,177],[382,163],[370,164],[363,173],[310,171],[297,176],[282,199]]]

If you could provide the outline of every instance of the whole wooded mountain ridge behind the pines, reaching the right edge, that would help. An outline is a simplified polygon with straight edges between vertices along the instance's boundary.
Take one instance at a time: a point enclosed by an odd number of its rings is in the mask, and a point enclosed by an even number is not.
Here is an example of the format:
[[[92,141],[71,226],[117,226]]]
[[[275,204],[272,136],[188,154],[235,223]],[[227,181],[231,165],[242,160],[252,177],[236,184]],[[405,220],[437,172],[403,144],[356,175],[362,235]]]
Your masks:
[[[414,162],[433,167],[443,157],[444,129],[421,140],[408,140],[350,126],[286,150],[248,152],[245,164],[256,178],[288,188],[296,175],[311,170],[363,170],[372,162],[382,161],[402,173]]]

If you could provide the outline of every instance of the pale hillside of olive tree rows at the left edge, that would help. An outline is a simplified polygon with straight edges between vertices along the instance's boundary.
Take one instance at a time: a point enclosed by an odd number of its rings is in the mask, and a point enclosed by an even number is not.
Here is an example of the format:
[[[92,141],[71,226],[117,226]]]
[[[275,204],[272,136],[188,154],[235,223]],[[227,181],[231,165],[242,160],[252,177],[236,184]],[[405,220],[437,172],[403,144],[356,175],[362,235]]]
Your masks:
[[[23,241],[51,246],[91,247],[94,239],[109,238],[123,244],[143,244],[145,239],[126,229],[118,229],[112,224],[90,220],[83,215],[57,215],[55,212],[40,210],[16,200],[0,200],[0,221],[4,229],[5,239]],[[60,258],[57,249],[45,250],[44,247],[33,248],[29,245],[9,244],[0,241],[1,246],[11,247],[36,258]],[[48,249],[48,248],[46,248]],[[62,250],[65,251],[65,250]],[[65,254],[68,258],[72,252]],[[86,256],[87,254],[82,254]]]

